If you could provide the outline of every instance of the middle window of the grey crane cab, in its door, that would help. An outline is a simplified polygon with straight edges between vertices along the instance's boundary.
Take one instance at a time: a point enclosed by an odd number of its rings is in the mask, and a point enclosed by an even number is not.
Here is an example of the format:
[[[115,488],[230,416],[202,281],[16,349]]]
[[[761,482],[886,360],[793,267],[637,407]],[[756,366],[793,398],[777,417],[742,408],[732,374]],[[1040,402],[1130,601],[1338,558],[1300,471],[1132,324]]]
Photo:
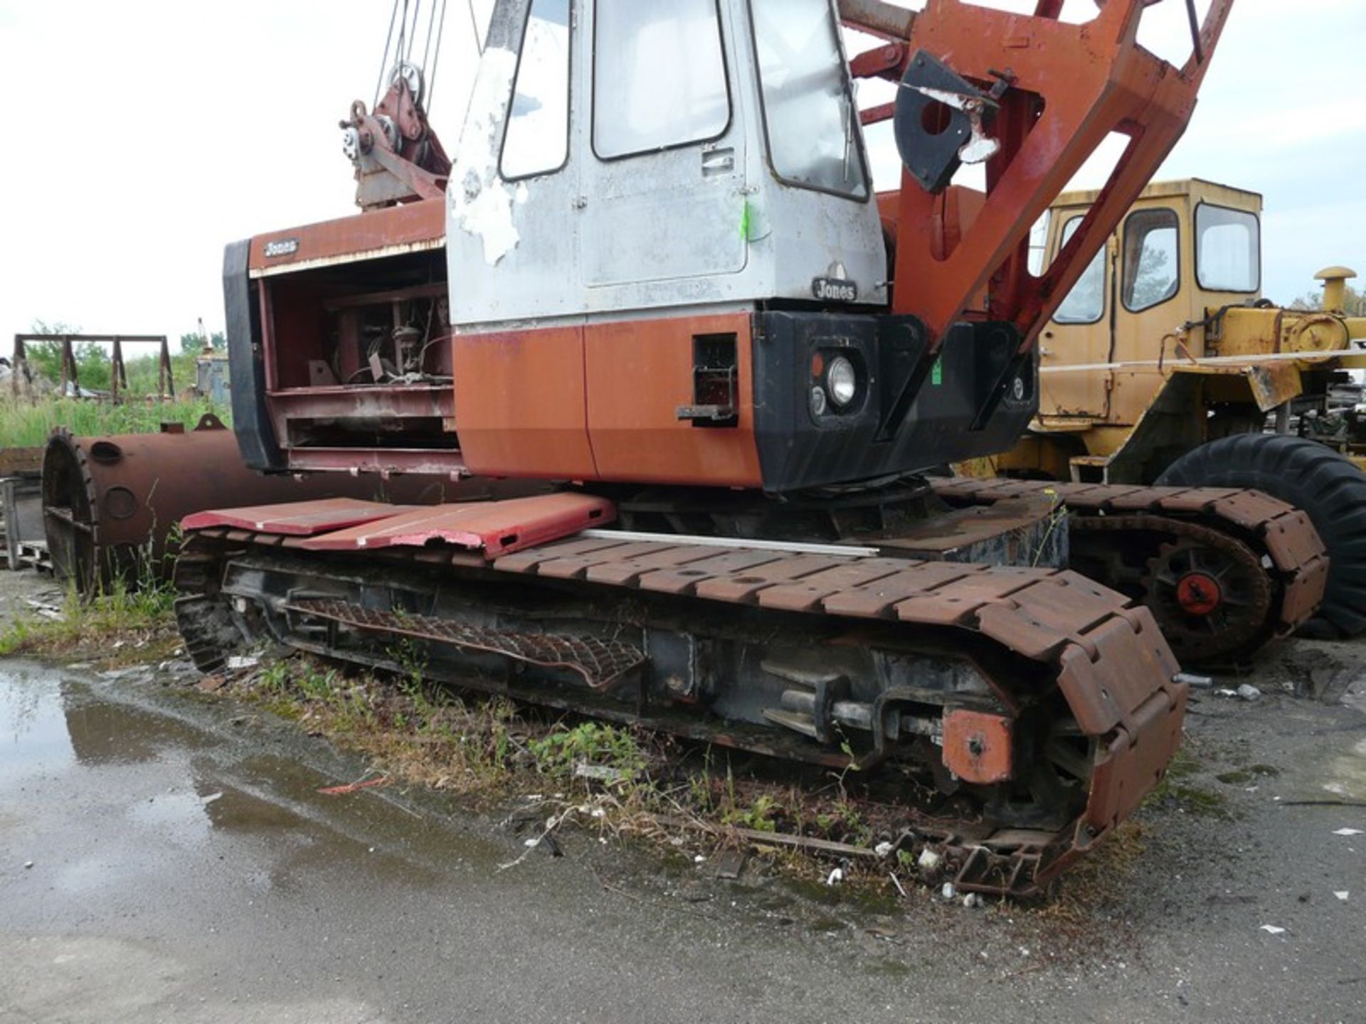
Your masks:
[[[604,160],[725,134],[731,97],[717,0],[598,0],[593,152]]]

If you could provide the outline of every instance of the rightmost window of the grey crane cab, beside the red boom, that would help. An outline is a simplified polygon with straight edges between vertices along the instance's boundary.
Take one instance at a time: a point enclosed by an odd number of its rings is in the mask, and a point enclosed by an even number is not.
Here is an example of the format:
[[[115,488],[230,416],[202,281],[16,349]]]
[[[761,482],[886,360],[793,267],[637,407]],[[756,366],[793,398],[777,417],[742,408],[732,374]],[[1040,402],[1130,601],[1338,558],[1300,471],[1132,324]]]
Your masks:
[[[863,138],[829,0],[750,0],[773,172],[866,198]]]

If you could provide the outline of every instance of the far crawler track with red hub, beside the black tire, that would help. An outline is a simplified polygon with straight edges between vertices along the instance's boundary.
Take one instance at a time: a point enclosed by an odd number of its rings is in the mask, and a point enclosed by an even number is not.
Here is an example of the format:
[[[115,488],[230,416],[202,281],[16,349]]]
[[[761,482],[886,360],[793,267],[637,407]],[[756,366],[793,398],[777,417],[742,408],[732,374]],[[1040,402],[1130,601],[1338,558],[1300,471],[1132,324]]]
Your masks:
[[[1324,599],[1328,553],[1313,523],[1261,492],[968,477],[934,490],[951,505],[1052,494],[1071,513],[1072,565],[1147,605],[1183,664],[1242,668]],[[1218,599],[1193,599],[1184,579],[1213,580]]]

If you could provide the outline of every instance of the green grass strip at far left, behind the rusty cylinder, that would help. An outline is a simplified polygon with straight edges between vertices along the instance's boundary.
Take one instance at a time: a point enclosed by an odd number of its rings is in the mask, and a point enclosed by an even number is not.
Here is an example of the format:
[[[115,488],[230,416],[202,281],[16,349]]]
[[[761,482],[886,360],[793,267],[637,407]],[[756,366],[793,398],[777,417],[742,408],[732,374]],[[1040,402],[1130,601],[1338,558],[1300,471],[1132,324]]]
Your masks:
[[[231,423],[225,407],[201,399],[160,404],[133,400],[115,406],[109,401],[26,401],[4,396],[0,397],[0,448],[45,445],[53,427],[59,426],[78,436],[156,433],[161,423],[183,423],[190,429],[205,412],[213,412],[224,423]]]

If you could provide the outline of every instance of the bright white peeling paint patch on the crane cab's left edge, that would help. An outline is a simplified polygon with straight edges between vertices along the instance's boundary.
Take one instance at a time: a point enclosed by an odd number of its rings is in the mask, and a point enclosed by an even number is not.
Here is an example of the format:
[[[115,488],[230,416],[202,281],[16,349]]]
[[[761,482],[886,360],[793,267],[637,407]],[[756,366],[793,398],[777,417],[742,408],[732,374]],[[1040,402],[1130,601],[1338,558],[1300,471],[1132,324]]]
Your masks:
[[[515,72],[516,53],[512,51],[484,52],[470,96],[470,117],[460,132],[447,186],[447,233],[458,229],[479,239],[489,266],[496,266],[520,240],[512,224],[516,197],[499,177],[499,126],[512,97]]]

